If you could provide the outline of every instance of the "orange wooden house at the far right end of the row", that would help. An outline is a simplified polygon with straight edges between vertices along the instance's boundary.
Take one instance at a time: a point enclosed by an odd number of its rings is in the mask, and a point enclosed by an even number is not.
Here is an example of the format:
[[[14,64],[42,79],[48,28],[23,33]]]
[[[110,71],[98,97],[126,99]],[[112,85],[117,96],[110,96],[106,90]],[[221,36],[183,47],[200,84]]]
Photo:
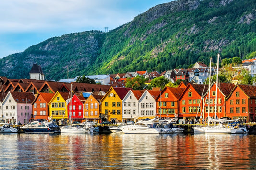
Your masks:
[[[226,108],[227,117],[255,122],[256,86],[236,85],[227,97]]]

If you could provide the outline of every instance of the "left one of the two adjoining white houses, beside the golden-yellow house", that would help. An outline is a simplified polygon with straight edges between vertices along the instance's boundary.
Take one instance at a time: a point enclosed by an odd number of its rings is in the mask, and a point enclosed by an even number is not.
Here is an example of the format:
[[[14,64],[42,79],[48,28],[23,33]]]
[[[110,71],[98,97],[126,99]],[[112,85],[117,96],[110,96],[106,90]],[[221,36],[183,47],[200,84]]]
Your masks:
[[[122,100],[122,120],[134,121],[140,117],[139,99],[144,90],[130,90]]]

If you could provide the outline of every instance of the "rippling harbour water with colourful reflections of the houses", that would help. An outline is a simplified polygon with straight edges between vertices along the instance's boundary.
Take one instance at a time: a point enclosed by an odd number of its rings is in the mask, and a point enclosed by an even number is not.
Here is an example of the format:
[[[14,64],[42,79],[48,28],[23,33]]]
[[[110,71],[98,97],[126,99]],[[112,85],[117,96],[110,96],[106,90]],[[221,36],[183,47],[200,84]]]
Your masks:
[[[0,134],[1,170],[256,168],[256,136]]]

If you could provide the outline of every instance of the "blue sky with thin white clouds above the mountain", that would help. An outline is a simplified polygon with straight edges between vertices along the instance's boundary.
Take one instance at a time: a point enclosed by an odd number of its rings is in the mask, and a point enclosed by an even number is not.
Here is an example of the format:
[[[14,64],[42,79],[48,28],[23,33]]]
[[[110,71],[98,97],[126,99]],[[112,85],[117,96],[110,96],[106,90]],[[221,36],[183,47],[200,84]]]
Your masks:
[[[0,58],[51,37],[115,29],[172,0],[0,0]]]

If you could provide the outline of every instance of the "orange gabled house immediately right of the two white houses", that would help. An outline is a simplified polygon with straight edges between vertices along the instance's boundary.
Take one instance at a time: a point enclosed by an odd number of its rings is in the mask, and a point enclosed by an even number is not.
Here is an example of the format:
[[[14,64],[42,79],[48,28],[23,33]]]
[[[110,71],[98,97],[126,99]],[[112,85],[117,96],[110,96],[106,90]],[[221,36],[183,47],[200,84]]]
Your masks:
[[[178,117],[179,102],[184,88],[165,87],[157,98],[156,116],[161,118]]]

